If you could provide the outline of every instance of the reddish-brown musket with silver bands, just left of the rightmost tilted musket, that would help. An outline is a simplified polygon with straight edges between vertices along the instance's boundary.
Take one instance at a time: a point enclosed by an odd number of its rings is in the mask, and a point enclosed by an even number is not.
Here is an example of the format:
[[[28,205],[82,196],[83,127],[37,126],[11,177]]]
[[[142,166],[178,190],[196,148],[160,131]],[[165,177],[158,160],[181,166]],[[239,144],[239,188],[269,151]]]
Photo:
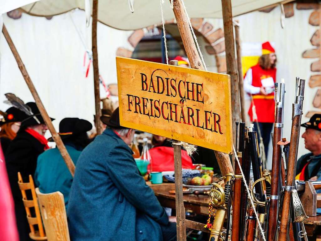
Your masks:
[[[285,93],[285,84],[284,79],[280,84],[280,97],[277,101],[277,91],[275,90],[275,123],[273,131],[273,156],[272,156],[272,172],[271,172],[271,195],[269,202],[269,216],[268,216],[268,229],[267,229],[267,238],[268,241],[275,240],[275,233],[277,230],[277,224],[279,219],[279,177],[280,177],[280,165],[281,165],[281,146],[278,145],[278,142],[282,138],[282,129],[283,129],[283,104],[284,104],[284,93]]]

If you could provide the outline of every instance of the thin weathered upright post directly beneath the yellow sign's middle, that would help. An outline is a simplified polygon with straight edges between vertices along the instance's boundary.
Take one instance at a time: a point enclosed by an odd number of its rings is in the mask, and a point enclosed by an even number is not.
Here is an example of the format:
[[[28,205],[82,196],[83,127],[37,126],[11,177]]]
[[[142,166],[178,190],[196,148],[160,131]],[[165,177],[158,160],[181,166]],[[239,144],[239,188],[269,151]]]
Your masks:
[[[178,66],[178,60],[170,60],[170,65]],[[174,143],[179,141],[174,140]],[[183,174],[182,174],[182,153],[180,145],[174,147],[174,171],[175,171],[175,204],[176,204],[176,231],[177,240],[186,240],[186,222],[185,222],[185,207],[183,201]]]

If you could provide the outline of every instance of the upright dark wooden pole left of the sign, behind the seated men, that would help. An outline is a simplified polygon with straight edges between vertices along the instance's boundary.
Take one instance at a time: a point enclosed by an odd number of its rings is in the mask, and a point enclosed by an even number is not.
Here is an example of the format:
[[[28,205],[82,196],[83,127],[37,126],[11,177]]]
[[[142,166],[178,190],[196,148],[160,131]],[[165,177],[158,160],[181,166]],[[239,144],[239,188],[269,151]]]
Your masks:
[[[97,51],[97,13],[98,0],[92,1],[92,29],[91,29],[91,50],[92,50],[92,66],[94,70],[94,93],[95,93],[95,123],[97,134],[101,134],[100,125],[100,91],[99,91],[99,69],[98,69],[98,51]]]

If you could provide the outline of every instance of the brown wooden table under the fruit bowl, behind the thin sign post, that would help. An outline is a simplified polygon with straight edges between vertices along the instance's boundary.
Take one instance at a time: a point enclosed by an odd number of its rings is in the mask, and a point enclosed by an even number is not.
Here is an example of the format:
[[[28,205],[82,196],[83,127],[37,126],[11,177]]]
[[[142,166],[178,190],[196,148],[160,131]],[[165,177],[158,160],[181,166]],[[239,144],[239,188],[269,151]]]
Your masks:
[[[147,184],[155,192],[155,196],[163,207],[175,209],[175,194],[169,194],[169,191],[175,190],[175,183]],[[194,194],[184,194],[184,207],[186,210],[192,210],[196,214],[208,216],[207,195],[196,196]]]

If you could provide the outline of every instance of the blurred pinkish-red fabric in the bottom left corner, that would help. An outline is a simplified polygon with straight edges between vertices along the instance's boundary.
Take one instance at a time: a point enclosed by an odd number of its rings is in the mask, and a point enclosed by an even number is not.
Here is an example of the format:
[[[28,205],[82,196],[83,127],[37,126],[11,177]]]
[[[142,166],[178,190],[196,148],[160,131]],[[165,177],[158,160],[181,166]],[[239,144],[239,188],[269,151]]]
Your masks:
[[[10,190],[4,155],[0,143],[0,236],[2,240],[19,241],[14,203]]]

